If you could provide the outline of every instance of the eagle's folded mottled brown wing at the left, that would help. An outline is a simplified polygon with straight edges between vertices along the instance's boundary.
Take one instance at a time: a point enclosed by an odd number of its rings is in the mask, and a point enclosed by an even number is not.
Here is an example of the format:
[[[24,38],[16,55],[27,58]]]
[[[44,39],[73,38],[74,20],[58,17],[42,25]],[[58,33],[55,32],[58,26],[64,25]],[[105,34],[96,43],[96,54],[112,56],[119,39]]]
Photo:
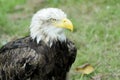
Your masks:
[[[27,80],[38,65],[44,66],[44,56],[38,54],[28,42],[24,41],[29,41],[29,39],[19,39],[1,48],[0,80]]]

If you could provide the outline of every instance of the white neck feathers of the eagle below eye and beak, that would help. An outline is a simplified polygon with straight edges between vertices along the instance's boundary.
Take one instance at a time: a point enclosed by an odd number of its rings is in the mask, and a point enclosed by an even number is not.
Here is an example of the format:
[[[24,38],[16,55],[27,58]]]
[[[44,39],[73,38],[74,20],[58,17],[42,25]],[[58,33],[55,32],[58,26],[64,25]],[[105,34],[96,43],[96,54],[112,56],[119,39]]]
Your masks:
[[[52,26],[44,28],[31,27],[30,32],[30,36],[33,40],[36,39],[38,44],[40,41],[44,41],[47,45],[52,46],[53,42],[57,40],[66,41],[66,36],[61,28]]]

